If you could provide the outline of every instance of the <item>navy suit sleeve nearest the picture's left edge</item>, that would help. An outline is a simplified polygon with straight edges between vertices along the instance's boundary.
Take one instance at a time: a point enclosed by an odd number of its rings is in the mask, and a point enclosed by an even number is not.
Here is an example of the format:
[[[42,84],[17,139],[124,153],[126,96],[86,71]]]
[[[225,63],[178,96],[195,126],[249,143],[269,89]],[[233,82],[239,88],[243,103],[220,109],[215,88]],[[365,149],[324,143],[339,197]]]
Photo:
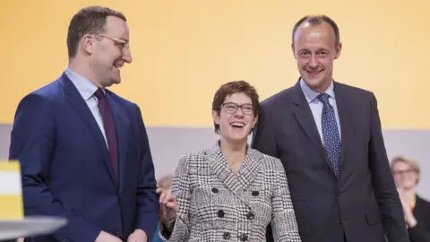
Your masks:
[[[49,165],[55,155],[55,108],[45,97],[30,94],[16,110],[10,160],[19,160],[25,216],[54,216],[68,220],[53,236],[59,240],[94,241],[100,229],[62,203],[49,189]],[[66,189],[66,188],[64,188]]]

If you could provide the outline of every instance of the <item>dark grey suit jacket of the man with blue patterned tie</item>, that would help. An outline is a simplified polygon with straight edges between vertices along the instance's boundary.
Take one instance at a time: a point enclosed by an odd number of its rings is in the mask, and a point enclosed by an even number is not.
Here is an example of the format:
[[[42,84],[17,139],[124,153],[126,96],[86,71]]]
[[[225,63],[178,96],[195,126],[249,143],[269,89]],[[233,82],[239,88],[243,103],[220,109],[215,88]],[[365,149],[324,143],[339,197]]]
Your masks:
[[[408,242],[374,94],[338,82],[334,92],[339,180],[299,82],[262,101],[253,148],[282,161],[303,242]]]

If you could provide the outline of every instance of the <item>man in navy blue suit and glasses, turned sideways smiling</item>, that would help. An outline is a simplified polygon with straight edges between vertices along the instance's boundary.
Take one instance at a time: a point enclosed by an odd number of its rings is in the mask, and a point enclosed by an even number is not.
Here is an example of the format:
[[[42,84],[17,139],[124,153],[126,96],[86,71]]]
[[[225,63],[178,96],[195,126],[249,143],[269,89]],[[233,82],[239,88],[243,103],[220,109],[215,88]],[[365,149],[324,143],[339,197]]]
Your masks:
[[[132,62],[125,16],[91,6],[73,16],[69,64],[20,102],[10,159],[22,164],[26,216],[68,224],[30,241],[148,241],[159,216],[140,108],[106,88]]]

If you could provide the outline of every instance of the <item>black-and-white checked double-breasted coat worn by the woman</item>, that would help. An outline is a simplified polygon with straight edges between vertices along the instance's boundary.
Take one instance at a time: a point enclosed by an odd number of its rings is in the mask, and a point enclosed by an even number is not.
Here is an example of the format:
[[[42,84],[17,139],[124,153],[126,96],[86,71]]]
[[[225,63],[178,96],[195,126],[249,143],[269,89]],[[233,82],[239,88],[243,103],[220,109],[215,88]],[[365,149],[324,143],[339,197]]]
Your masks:
[[[173,233],[165,241],[301,241],[288,180],[280,160],[248,148],[235,175],[219,150],[185,154],[172,185],[179,212]]]

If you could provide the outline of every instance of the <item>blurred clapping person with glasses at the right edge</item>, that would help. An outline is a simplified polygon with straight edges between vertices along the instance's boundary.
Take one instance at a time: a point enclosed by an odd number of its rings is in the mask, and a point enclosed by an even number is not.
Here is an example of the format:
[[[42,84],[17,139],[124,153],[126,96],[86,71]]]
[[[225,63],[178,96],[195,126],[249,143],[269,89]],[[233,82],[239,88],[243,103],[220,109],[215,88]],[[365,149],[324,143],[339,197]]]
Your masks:
[[[391,160],[391,171],[403,205],[410,241],[429,242],[430,203],[417,194],[421,176],[417,161],[395,157]]]

